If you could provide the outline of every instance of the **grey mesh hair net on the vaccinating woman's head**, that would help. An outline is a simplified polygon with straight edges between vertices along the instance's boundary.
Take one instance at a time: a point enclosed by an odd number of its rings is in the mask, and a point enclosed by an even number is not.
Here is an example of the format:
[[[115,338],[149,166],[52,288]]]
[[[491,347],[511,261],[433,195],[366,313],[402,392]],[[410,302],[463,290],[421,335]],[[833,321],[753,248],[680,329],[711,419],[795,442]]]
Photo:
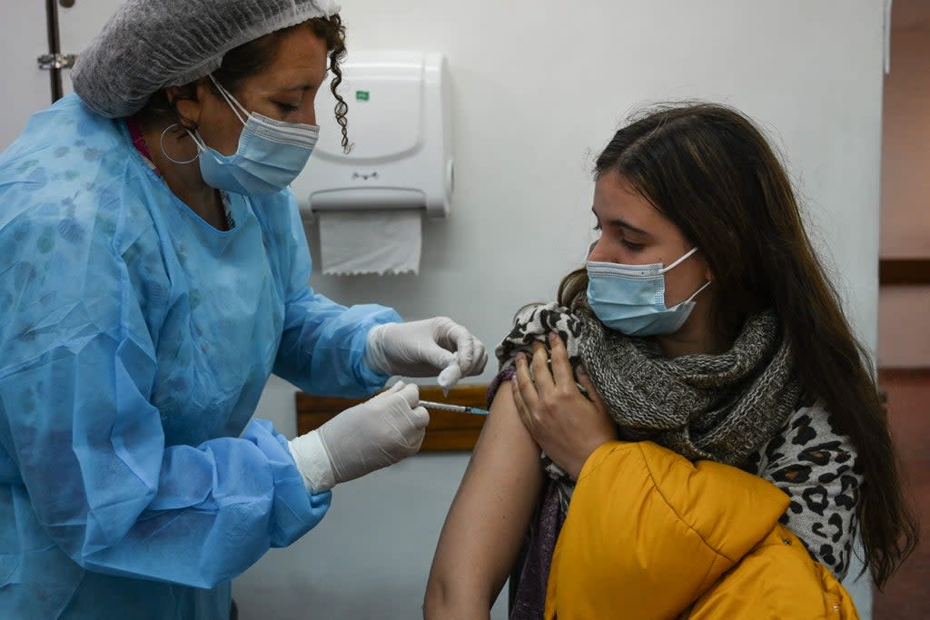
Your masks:
[[[129,116],[160,88],[213,73],[233,47],[338,12],[333,0],[128,0],[78,56],[74,90],[104,116]]]

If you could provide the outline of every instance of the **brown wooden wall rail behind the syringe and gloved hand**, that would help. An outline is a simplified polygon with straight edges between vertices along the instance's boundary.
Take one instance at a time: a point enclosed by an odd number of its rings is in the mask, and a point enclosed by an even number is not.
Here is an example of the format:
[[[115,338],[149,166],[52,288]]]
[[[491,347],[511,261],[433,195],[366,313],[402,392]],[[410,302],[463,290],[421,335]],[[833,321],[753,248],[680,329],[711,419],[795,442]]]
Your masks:
[[[487,406],[486,394],[486,385],[456,386],[449,390],[447,397],[443,396],[443,390],[438,386],[420,386],[419,389],[419,397],[424,401],[464,404],[481,409]],[[297,431],[302,435],[318,429],[326,420],[364,400],[311,396],[305,392],[298,392],[296,397]],[[431,411],[430,426],[426,429],[422,450],[425,452],[472,450],[484,424],[485,416]]]

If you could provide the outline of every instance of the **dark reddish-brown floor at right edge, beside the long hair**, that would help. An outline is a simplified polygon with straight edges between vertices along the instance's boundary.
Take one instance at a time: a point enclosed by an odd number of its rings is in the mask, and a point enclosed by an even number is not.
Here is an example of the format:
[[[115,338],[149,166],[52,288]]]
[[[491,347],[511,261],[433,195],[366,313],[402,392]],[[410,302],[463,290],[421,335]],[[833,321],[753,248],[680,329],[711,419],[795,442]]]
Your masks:
[[[921,543],[883,592],[875,592],[874,620],[930,618],[930,370],[883,370],[888,416],[908,493],[921,520]]]

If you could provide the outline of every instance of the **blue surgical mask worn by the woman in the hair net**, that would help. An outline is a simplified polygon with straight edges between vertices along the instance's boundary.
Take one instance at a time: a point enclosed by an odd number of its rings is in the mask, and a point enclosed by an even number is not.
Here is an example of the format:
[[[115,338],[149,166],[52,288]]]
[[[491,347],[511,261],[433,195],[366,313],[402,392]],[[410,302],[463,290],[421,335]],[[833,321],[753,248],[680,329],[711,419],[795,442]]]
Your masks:
[[[239,146],[232,155],[206,146],[199,133],[191,134],[200,151],[200,173],[207,185],[249,196],[284,190],[307,165],[320,128],[247,112],[212,75],[210,79],[233,108],[243,128]]]

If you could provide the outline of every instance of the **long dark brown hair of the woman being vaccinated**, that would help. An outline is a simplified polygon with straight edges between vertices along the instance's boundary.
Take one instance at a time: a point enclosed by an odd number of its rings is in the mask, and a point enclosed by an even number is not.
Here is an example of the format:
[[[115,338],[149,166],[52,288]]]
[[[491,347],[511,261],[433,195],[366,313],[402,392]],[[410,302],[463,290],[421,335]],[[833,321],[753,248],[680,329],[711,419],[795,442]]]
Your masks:
[[[721,335],[737,336],[751,312],[777,312],[805,388],[857,448],[864,563],[883,587],[916,545],[917,522],[902,494],[870,356],[853,336],[768,142],[725,106],[664,106],[617,132],[595,165],[597,178],[609,171],[700,248],[714,275],[711,316]],[[572,272],[559,287],[560,303],[585,303],[587,286],[585,270]]]

